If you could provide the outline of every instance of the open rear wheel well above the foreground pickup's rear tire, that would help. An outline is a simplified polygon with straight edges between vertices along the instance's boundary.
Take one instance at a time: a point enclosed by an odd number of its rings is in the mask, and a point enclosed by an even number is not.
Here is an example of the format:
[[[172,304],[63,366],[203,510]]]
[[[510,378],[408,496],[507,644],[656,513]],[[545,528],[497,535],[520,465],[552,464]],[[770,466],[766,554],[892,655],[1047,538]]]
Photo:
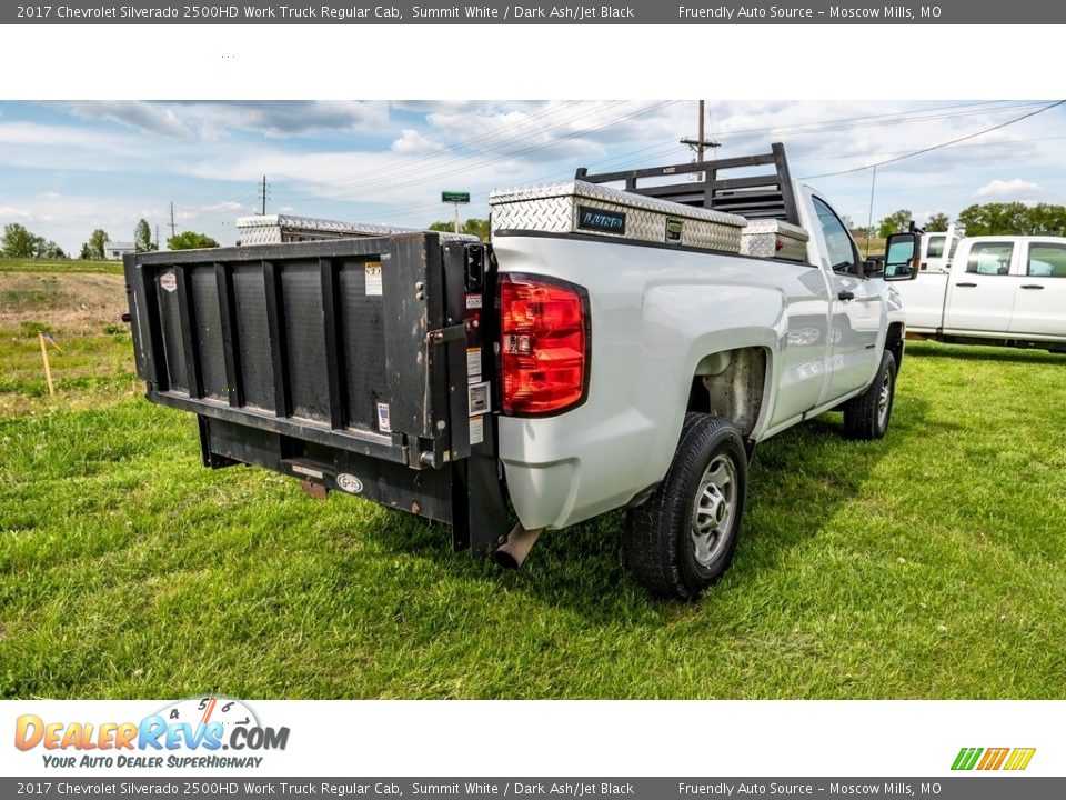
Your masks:
[[[740,348],[701,359],[688,390],[687,411],[731,420],[750,439],[766,386],[766,351]]]

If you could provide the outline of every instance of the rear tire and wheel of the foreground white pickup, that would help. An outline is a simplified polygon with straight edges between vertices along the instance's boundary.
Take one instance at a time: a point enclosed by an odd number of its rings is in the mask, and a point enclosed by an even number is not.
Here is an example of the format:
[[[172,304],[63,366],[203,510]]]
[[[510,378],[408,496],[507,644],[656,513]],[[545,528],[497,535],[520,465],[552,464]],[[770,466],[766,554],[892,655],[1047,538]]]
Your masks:
[[[626,519],[626,560],[655,594],[694,600],[733,560],[747,454],[730,420],[690,413],[666,478]]]

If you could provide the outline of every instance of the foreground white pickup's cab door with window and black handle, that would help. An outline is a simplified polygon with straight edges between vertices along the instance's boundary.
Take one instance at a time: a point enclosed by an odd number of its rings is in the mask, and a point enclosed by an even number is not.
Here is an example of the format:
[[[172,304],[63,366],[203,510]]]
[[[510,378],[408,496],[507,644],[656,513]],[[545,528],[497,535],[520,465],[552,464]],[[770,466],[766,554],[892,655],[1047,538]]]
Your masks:
[[[881,292],[858,277],[859,256],[847,228],[821,198],[812,197],[817,214],[816,236],[829,272],[829,370],[821,402],[864,387],[877,369],[877,336],[881,331]]]

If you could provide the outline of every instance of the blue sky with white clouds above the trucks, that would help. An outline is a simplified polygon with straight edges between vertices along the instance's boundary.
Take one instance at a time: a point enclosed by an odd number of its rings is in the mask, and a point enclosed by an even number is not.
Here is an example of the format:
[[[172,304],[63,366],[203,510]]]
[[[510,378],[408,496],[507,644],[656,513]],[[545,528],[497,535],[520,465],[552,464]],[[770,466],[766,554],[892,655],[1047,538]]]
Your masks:
[[[858,169],[1049,106],[1038,100],[706,101],[714,156],[785,144],[857,224],[872,171]],[[19,222],[77,254],[97,228],[132,241],[139,219],[222,244],[238,217],[268,213],[421,228],[450,220],[442,191],[489,192],[611,171],[684,163],[695,100],[642,101],[76,101],[0,102],[0,226]],[[979,202],[1066,203],[1066,106],[957,144],[884,164],[873,220],[909,209],[922,222]],[[845,172],[844,174],[833,174]]]

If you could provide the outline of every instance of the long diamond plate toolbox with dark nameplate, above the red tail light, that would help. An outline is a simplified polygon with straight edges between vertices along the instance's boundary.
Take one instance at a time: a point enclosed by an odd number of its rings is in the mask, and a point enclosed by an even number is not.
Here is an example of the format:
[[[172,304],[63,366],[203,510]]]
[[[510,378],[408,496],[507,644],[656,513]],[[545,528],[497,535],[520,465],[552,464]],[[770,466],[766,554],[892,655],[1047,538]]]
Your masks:
[[[572,180],[489,196],[492,232],[584,233],[740,252],[746,220],[735,214]]]

